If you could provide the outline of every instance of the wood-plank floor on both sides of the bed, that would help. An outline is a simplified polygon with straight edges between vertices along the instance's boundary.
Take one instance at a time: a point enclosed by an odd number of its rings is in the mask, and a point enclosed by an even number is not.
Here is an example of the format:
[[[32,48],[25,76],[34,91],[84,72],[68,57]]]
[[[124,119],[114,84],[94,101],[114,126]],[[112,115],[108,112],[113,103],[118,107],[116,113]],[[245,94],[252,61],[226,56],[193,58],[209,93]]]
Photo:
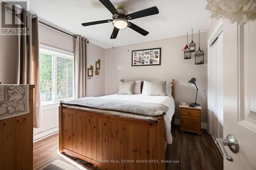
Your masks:
[[[179,126],[172,127],[173,144],[167,145],[165,156],[166,169],[223,169],[223,158],[211,136],[202,132],[202,136],[179,131]],[[59,159],[68,162],[57,154],[58,134],[54,134],[34,143],[34,169],[41,169]],[[75,157],[66,155],[74,162]],[[69,162],[68,162],[69,163]],[[98,170],[90,163],[79,163],[89,169]]]

